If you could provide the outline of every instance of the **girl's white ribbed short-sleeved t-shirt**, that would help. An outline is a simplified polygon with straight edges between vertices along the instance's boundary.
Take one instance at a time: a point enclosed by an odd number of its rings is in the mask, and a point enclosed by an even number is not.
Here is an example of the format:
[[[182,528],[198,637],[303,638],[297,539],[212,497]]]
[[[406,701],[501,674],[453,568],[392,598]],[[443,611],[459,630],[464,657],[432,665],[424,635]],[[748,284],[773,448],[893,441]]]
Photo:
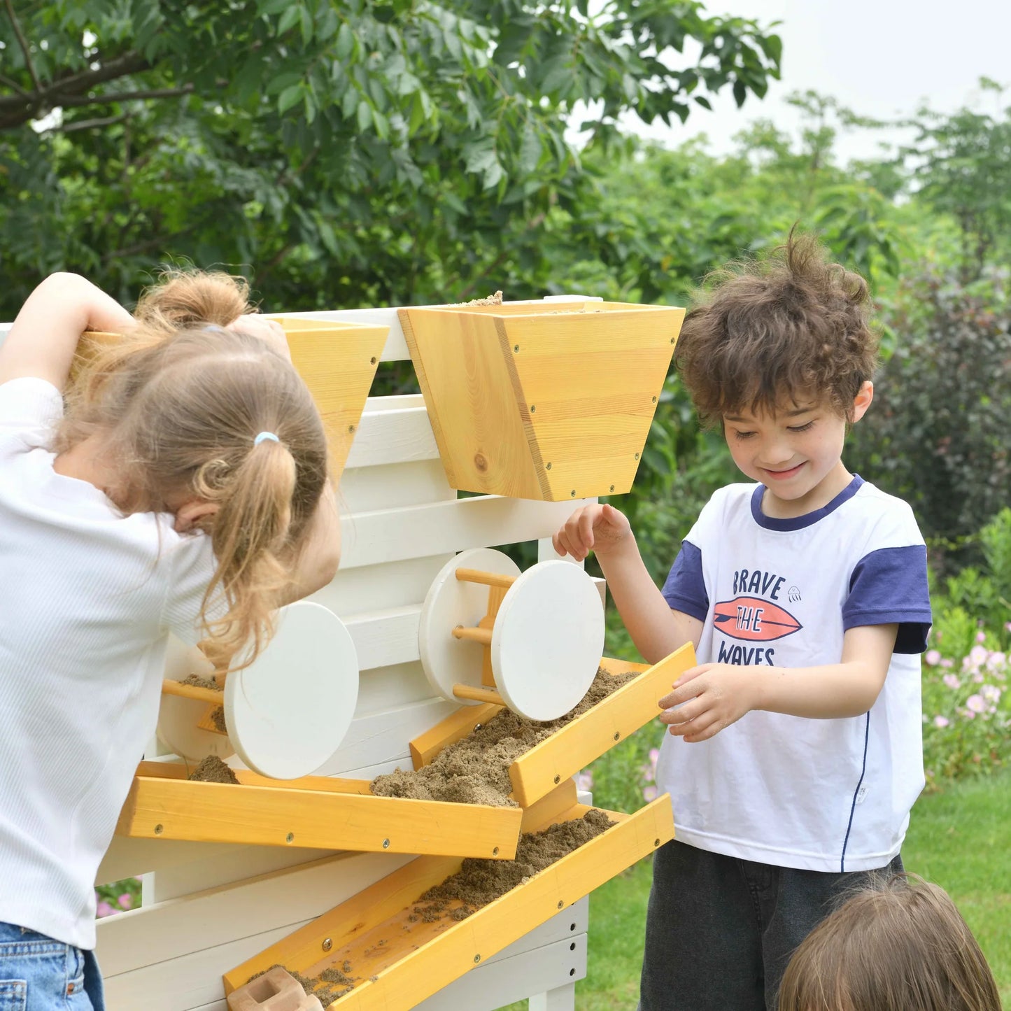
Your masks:
[[[94,881],[158,718],[168,633],[197,639],[209,538],[122,517],[45,448],[63,402],[0,385],[0,921],[95,946]]]

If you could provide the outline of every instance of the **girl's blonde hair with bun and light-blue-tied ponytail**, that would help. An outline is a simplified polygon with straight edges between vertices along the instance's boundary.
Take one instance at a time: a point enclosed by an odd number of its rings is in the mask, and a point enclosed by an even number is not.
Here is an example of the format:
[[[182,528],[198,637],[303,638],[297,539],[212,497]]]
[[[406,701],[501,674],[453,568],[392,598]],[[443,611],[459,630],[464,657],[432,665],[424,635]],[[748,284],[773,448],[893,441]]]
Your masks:
[[[100,434],[120,468],[124,513],[217,504],[201,521],[217,569],[201,605],[201,644],[218,669],[269,640],[271,614],[327,482],[319,412],[291,363],[261,338],[224,329],[249,311],[245,281],[173,272],[147,291],[139,326],[87,363],[54,448]],[[278,441],[254,444],[261,432]],[[227,604],[210,618],[212,601]]]

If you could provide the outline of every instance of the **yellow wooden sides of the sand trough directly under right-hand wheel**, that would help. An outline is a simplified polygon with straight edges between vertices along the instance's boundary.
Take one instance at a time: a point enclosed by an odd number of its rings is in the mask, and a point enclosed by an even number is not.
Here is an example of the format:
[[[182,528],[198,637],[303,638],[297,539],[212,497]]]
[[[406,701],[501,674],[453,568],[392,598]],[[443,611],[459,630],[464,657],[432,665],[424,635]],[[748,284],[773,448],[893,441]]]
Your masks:
[[[639,676],[520,755],[509,770],[513,799],[523,808],[530,807],[629,734],[655,720],[660,715],[659,700],[695,665],[691,643],[651,667],[605,657],[601,666],[609,674],[636,671]],[[466,737],[478,724],[487,723],[501,709],[490,703],[461,706],[410,742],[415,768],[428,765],[444,748]]]

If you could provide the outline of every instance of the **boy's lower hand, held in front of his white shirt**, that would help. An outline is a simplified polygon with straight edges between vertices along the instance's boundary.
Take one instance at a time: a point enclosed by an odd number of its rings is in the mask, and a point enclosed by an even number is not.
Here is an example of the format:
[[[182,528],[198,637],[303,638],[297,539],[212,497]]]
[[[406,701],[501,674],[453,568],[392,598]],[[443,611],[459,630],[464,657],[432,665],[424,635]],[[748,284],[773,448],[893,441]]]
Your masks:
[[[690,743],[707,741],[755,708],[757,674],[753,667],[730,663],[703,663],[685,670],[673,692],[660,700],[660,722]]]

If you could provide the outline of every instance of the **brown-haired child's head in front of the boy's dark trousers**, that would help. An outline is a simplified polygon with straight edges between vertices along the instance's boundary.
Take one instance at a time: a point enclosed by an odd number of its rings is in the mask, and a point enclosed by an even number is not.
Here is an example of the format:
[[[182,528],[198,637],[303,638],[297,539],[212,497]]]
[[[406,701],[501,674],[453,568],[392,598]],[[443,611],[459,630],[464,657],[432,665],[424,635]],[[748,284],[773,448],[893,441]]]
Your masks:
[[[904,875],[823,920],[779,986],[779,1011],[1000,1009],[993,974],[947,893]]]

